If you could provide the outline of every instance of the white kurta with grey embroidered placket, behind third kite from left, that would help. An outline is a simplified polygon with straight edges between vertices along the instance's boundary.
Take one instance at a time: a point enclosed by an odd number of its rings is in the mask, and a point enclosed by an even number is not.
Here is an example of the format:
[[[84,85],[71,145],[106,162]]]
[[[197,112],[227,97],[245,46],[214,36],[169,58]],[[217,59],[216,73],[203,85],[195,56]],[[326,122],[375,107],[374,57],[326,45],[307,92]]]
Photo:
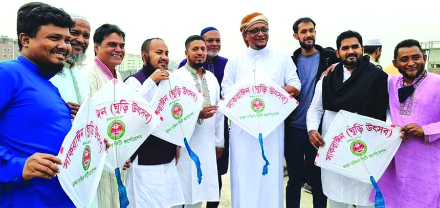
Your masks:
[[[192,74],[185,67],[173,73],[180,79],[195,86]],[[211,105],[220,99],[220,86],[214,74],[206,71],[205,79],[208,84]],[[199,77],[200,86],[202,86]],[[180,149],[180,159],[177,165],[182,182],[185,204],[202,201],[219,201],[217,163],[215,142],[224,141],[224,115],[217,111],[213,117],[205,119],[203,124],[196,124],[189,141],[189,146],[199,156],[202,168],[202,182],[197,182],[197,170],[185,147]]]

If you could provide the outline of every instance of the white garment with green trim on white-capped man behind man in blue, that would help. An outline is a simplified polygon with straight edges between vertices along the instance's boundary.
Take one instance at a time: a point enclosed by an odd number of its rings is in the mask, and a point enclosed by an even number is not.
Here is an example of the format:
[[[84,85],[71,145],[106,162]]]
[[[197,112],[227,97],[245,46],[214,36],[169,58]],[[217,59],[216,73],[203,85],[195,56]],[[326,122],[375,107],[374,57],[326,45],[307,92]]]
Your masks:
[[[74,65],[72,68],[64,67],[63,74],[56,74],[49,81],[58,88],[61,98],[67,103],[81,104],[76,95],[75,83],[73,77],[75,77],[78,83],[78,89],[80,98],[82,101],[90,94],[90,81],[89,77],[80,72],[78,67]]]

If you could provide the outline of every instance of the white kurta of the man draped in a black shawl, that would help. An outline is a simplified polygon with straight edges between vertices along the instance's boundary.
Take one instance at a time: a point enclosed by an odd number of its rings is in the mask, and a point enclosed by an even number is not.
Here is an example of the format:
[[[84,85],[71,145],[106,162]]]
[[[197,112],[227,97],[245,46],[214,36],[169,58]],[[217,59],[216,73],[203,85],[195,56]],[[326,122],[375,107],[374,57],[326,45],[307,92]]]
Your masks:
[[[350,78],[351,73],[344,67],[343,82]],[[318,81],[315,95],[306,115],[307,131],[318,130],[322,114],[322,137],[328,131],[338,112],[322,108],[322,79]],[[321,169],[322,191],[328,199],[356,205],[372,205],[369,195],[373,186],[338,173]],[[335,182],[337,181],[337,182]]]

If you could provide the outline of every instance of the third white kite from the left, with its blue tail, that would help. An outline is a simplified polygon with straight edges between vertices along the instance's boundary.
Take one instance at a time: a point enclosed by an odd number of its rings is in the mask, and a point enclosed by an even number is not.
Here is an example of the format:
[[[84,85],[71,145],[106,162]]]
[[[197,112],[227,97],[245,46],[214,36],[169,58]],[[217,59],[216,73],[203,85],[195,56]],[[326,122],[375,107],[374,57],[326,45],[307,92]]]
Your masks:
[[[175,145],[184,146],[197,169],[197,181],[202,182],[202,168],[199,156],[192,151],[188,141],[202,109],[204,96],[192,85],[174,74],[169,80],[162,80],[151,103],[160,113],[163,122],[153,131],[153,135]]]

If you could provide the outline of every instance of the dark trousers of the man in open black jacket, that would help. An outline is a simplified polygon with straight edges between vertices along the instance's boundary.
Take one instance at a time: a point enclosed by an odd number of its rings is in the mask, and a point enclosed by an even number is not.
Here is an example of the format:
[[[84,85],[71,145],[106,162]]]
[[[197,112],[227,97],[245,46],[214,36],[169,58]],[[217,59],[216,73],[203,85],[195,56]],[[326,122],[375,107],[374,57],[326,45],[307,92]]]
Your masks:
[[[289,180],[285,188],[287,207],[299,207],[300,204],[301,183],[304,176],[304,154],[309,172],[307,184],[312,187],[313,207],[327,206],[327,197],[322,192],[321,169],[314,165],[316,153],[317,150],[310,144],[307,130],[285,126],[284,157],[289,173]]]

